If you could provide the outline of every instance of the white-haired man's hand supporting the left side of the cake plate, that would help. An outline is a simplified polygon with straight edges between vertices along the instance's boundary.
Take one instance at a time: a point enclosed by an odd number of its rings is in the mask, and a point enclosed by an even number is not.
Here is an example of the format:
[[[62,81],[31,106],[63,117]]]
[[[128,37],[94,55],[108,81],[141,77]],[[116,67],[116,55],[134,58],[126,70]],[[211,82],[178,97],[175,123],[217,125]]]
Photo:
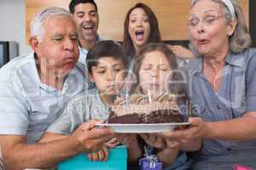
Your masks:
[[[84,122],[68,137],[74,140],[75,150],[78,152],[96,152],[102,150],[104,143],[114,138],[114,133],[110,128],[96,128],[96,123],[102,123],[102,121]]]

